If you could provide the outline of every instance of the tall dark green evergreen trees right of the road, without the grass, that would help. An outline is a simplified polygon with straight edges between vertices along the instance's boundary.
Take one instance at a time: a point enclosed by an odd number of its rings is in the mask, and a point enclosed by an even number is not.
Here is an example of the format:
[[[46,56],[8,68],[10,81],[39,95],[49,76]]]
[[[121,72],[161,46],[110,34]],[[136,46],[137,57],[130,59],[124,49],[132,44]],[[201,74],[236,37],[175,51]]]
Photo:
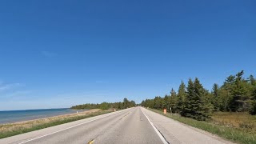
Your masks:
[[[181,114],[197,120],[210,118],[213,111],[248,111],[256,114],[256,80],[253,75],[243,78],[244,71],[230,75],[222,86],[214,83],[212,90],[206,90],[198,78],[182,82],[178,93],[174,89],[165,97],[143,100],[141,105],[153,109]]]

